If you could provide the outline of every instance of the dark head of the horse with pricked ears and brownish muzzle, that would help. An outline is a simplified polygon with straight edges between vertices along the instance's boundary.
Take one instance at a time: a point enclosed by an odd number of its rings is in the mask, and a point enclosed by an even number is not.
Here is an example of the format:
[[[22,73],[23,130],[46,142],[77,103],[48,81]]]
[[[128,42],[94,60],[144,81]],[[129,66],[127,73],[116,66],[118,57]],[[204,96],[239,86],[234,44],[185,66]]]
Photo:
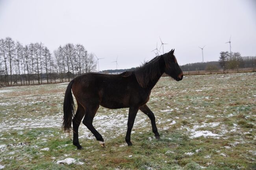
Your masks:
[[[163,55],[165,60],[165,73],[176,79],[176,81],[180,81],[183,78],[183,72],[180,69],[173,53],[174,49]]]

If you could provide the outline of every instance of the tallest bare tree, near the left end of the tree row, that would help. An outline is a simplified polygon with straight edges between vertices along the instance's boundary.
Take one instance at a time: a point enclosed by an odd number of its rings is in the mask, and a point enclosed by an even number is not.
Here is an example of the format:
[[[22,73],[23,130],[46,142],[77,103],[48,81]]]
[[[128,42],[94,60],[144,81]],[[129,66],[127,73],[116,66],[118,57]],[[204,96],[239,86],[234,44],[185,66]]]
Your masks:
[[[8,55],[8,60],[9,60],[9,68],[10,68],[10,80],[11,80],[11,85],[12,85],[12,64],[13,64],[13,59],[15,57],[15,42],[11,37],[6,37],[5,39],[5,46],[6,46],[6,51]]]

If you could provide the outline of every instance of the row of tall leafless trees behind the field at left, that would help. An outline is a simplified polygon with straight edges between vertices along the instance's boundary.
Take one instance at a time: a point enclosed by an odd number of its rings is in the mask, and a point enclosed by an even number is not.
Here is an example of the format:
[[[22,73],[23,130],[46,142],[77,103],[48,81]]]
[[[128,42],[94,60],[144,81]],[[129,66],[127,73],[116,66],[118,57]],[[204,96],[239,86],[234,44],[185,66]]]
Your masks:
[[[0,39],[0,84],[35,85],[70,81],[96,69],[93,54],[82,44],[65,44],[53,55],[43,43],[22,45],[10,37]]]

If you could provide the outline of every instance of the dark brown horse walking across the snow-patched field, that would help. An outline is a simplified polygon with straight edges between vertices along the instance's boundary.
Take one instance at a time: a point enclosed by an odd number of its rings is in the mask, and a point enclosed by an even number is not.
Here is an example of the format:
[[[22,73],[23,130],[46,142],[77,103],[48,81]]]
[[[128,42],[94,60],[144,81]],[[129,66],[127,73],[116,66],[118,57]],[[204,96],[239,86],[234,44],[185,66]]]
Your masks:
[[[93,133],[100,145],[105,146],[104,139],[93,127],[93,118],[100,105],[109,109],[129,107],[128,129],[125,137],[128,146],[132,145],[130,135],[138,110],[150,118],[153,133],[156,139],[159,139],[154,113],[146,103],[152,88],[163,73],[168,74],[176,81],[182,80],[183,72],[173,52],[174,50],[171,50],[157,56],[134,71],[118,75],[86,73],[70,81],[63,104],[63,127],[65,131],[69,132],[71,122],[73,123],[73,144],[78,149],[82,148],[78,141],[78,127],[84,117],[83,124]],[[71,89],[78,105],[75,115]],[[72,117],[74,118],[72,119]]]

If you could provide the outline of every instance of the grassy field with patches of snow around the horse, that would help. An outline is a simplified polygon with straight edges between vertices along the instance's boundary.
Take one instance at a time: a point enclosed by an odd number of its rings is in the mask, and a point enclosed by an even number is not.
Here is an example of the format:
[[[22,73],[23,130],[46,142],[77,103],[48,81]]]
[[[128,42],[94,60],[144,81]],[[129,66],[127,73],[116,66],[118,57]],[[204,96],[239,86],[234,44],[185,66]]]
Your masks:
[[[100,107],[94,119],[106,148],[81,124],[80,144],[63,133],[67,83],[0,89],[0,169],[256,169],[256,73],[162,77],[124,137],[128,109]]]

